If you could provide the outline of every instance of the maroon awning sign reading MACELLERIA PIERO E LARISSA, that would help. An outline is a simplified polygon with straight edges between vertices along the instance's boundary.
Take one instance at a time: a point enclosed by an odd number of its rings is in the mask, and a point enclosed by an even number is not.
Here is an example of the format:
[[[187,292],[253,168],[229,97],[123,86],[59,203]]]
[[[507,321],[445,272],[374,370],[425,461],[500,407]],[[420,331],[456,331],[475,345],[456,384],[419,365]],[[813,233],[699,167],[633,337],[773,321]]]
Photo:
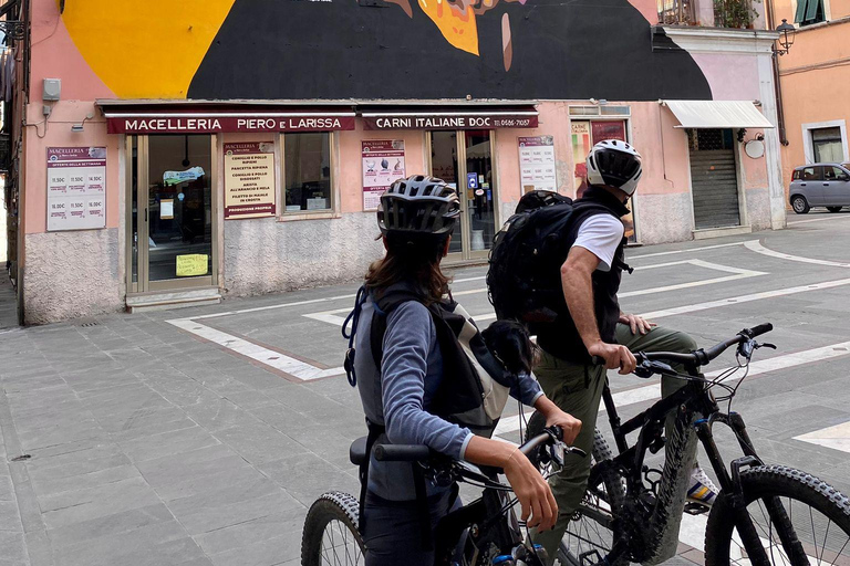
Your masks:
[[[354,129],[354,115],[351,116],[200,116],[169,117],[168,115],[147,117],[115,117],[107,114],[110,134],[217,134],[234,132],[334,132]]]

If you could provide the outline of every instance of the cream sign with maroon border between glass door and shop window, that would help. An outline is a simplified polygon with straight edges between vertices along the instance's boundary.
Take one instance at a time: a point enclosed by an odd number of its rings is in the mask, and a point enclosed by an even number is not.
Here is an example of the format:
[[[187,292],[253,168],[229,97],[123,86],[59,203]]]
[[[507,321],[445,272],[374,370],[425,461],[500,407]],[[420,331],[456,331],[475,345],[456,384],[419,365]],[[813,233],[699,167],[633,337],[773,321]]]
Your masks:
[[[225,144],[225,220],[273,217],[274,143]]]

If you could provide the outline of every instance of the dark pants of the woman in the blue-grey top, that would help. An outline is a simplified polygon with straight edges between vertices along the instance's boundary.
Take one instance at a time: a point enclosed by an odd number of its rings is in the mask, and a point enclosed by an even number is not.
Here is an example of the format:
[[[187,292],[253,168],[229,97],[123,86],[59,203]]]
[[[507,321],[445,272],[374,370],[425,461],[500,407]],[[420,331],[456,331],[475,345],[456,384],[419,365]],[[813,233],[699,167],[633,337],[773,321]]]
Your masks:
[[[366,566],[434,566],[434,530],[449,511],[460,506],[455,490],[428,500],[431,551],[423,549],[422,517],[416,501],[387,501],[366,494]]]

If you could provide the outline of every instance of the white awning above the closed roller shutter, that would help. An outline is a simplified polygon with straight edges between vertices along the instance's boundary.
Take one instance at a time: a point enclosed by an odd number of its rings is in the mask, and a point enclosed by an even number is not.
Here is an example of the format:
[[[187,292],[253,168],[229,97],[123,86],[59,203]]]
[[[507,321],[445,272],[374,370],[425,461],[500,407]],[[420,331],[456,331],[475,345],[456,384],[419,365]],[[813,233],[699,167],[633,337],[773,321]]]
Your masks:
[[[662,101],[678,119],[677,128],[773,128],[748,101]]]

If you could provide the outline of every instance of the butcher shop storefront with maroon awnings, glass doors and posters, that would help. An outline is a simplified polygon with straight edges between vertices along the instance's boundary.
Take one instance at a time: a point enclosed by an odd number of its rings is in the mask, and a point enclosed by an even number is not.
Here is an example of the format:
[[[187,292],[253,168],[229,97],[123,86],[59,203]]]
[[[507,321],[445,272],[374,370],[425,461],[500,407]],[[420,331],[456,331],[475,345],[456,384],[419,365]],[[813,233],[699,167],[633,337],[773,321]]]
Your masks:
[[[486,259],[521,191],[558,188],[533,102],[99,106],[121,147],[132,311],[351,279],[381,254],[374,211],[401,177],[458,190],[453,263]]]

